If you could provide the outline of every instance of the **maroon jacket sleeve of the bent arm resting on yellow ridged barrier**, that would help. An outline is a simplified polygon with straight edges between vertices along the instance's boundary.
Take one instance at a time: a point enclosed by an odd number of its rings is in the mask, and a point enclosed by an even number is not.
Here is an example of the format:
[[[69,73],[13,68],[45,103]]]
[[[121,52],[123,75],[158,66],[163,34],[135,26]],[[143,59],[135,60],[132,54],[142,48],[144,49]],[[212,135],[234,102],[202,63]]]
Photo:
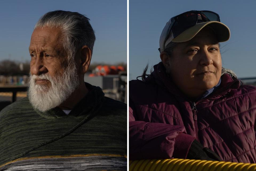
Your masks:
[[[184,126],[137,121],[134,112],[129,107],[130,160],[186,158],[195,138]]]

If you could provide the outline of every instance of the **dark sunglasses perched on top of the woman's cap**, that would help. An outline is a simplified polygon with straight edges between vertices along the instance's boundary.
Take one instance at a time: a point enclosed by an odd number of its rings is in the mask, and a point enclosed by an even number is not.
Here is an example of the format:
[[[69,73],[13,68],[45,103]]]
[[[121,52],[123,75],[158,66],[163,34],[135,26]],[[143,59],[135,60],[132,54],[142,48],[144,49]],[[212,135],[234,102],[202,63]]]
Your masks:
[[[213,11],[187,11],[173,17],[172,19],[174,20],[174,22],[172,22],[171,26],[169,27],[169,33],[165,37],[165,41],[163,42],[164,45],[171,31],[173,34],[173,38],[175,38],[178,35],[180,35],[183,31],[187,30],[192,26],[195,26],[197,23],[209,21],[220,22],[219,15]],[[160,48],[158,50],[159,52],[161,52]]]

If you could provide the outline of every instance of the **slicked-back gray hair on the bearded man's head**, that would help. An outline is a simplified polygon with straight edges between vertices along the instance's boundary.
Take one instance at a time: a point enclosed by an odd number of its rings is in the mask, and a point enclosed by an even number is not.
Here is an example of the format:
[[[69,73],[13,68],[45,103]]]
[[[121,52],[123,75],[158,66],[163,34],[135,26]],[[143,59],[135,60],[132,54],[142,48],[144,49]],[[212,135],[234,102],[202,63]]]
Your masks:
[[[50,11],[43,15],[35,24],[35,28],[59,27],[64,38],[64,49],[68,53],[68,60],[75,56],[78,49],[87,45],[93,52],[95,41],[94,30],[89,18],[78,12]]]

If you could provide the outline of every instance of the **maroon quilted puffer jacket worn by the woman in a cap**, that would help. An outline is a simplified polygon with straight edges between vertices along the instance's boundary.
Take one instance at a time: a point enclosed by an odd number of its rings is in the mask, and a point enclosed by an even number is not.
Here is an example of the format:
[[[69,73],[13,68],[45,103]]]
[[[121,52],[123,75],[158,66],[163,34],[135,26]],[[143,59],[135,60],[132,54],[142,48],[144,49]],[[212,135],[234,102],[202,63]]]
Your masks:
[[[184,159],[197,139],[224,161],[256,162],[256,87],[223,74],[217,90],[191,102],[162,62],[145,81],[129,84],[130,160]]]

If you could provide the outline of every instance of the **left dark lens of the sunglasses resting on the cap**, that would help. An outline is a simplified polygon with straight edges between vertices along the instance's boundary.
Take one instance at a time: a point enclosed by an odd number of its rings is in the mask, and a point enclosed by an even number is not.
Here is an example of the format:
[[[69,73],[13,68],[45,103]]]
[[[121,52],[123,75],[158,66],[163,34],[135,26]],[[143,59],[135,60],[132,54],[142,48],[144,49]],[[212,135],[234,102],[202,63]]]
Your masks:
[[[179,15],[177,18],[177,22],[182,27],[191,27],[197,23],[197,14],[195,13],[186,13]]]

